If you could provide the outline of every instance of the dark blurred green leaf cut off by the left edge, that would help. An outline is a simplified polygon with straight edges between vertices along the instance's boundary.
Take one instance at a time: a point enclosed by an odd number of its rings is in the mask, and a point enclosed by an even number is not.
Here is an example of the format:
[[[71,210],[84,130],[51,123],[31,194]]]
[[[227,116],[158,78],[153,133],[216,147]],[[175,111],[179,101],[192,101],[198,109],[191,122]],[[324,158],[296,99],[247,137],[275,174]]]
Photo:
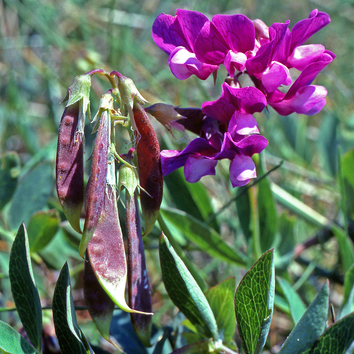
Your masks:
[[[0,158],[0,210],[10,201],[15,192],[20,164],[16,152],[8,152]]]

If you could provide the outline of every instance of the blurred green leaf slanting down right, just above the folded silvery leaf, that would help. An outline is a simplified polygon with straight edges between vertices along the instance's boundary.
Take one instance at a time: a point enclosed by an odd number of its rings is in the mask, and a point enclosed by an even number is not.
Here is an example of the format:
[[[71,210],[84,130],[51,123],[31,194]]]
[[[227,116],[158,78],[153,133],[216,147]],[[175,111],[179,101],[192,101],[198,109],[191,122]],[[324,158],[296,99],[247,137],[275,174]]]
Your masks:
[[[246,256],[230,247],[221,236],[207,224],[193,216],[176,209],[160,209],[164,219],[169,221],[184,236],[194,242],[201,250],[226,262],[246,264]]]

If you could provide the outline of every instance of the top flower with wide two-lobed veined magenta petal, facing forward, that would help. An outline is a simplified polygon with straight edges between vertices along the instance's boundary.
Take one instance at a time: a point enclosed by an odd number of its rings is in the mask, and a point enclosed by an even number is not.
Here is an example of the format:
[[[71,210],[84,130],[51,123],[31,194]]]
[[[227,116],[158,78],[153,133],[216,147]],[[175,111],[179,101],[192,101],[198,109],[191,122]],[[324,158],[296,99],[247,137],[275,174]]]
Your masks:
[[[244,15],[215,15],[205,22],[194,42],[196,57],[205,63],[224,63],[230,76],[245,68],[246,53],[255,47],[255,26]]]

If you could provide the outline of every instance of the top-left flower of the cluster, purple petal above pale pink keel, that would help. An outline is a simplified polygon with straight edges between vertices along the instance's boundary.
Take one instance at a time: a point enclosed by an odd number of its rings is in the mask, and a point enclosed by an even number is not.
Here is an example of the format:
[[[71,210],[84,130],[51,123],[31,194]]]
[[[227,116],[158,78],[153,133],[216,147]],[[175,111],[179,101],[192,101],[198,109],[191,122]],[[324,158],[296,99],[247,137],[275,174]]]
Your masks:
[[[169,65],[173,75],[180,80],[195,74],[205,80],[219,68],[206,64],[194,54],[194,41],[208,19],[196,11],[178,9],[176,16],[161,13],[152,27],[152,37],[156,45],[169,54]]]

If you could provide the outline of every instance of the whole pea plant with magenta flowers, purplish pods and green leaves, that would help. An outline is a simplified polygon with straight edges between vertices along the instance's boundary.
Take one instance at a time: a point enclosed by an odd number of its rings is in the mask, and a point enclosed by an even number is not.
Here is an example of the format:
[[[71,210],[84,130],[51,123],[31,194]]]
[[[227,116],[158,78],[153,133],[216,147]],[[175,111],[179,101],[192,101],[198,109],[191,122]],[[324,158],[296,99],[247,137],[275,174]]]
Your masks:
[[[258,354],[269,349],[267,338],[276,306],[289,314],[295,325],[278,353],[353,352],[354,252],[348,236],[353,153],[338,154],[342,224],[330,222],[272,184],[268,175],[280,165],[267,172],[262,162],[268,141],[260,134],[255,114],[266,114],[268,109],[282,116],[319,113],[326,104],[327,91],[312,82],[336,57],[321,44],[304,45],[330,23],[326,13],[315,9],[291,30],[289,22],[268,27],[259,19],[251,21],[239,14],[215,15],[209,21],[202,13],[181,9],[176,16],[159,15],[152,37],[169,55],[168,64],[176,78],[195,75],[207,80],[212,76],[215,84],[220,66],[226,69],[220,97],[199,108],[165,103],[144,108],[147,101],[134,82],[117,71],[95,69],[74,79],[64,99],[58,133],[57,208],[35,213],[28,225],[19,226],[13,240],[8,277],[23,329],[20,334],[0,321],[2,352],[53,352],[48,338],[56,338],[63,354],[105,352],[91,344],[78,324],[68,263],[63,265],[52,294],[55,336],[49,336],[43,324],[44,308],[31,258],[38,261],[59,228],[80,235],[75,252],[78,259],[84,259],[84,308],[100,335],[112,344],[110,350],[128,354]],[[99,98],[92,118],[93,75],[107,79],[110,88]],[[186,135],[187,131],[195,137],[182,150],[160,151],[148,114],[171,133],[172,140],[175,134]],[[87,181],[86,116],[96,133]],[[125,151],[116,144],[119,126],[130,137]],[[1,196],[3,207],[15,193],[17,180],[11,169],[16,166],[16,156],[8,154],[1,159],[0,177],[6,186]],[[232,245],[223,236],[205,188],[198,184],[204,176],[217,175],[218,162],[228,164],[225,175],[232,188],[237,188],[230,203],[236,203],[243,237]],[[177,171],[179,167],[183,167],[184,176]],[[164,180],[168,194],[163,190]],[[295,252],[298,256],[311,244],[295,248],[294,218],[278,215],[275,196],[282,205],[326,230],[328,237],[335,236],[345,274],[337,319],[330,306],[329,280],[322,281],[308,306],[290,285],[286,268]],[[175,208],[163,204],[165,198]],[[166,308],[171,316],[167,325],[154,320],[154,289],[144,250],[149,238],[158,239],[166,301],[175,306],[174,315],[171,306]],[[312,244],[319,242],[312,240]],[[187,255],[188,247],[232,267],[234,276],[209,287]],[[116,313],[124,319],[130,317],[130,332],[123,329],[122,322],[113,326]]]

